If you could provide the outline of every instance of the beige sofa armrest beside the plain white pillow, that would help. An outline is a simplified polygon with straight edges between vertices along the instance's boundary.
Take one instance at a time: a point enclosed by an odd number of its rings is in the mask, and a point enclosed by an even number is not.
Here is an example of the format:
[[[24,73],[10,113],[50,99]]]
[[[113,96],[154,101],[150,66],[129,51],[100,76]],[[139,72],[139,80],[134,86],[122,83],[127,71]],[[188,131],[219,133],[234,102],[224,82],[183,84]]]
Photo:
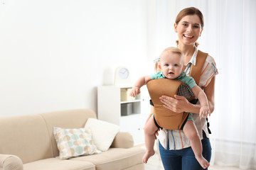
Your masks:
[[[118,132],[111,147],[129,148],[134,146],[134,140],[129,132]]]

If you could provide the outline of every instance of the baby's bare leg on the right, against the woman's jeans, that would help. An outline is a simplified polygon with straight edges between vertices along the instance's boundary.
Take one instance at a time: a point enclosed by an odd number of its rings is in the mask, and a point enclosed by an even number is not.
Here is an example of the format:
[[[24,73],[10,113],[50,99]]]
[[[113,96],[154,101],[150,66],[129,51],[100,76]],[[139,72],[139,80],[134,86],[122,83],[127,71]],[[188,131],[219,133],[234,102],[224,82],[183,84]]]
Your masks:
[[[202,155],[202,143],[198,135],[198,131],[196,130],[196,125],[193,123],[193,121],[187,120],[186,124],[184,125],[183,132],[191,142],[191,148],[196,156],[196,160],[203,167],[203,169],[208,168],[210,163]]]

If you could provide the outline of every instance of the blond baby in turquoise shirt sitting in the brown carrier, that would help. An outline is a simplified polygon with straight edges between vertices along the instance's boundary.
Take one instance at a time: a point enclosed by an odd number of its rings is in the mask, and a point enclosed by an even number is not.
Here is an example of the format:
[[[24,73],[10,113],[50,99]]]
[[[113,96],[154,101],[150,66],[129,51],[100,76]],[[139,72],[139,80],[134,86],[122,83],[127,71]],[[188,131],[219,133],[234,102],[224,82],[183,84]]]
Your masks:
[[[166,48],[166,50],[164,50],[160,55],[159,68],[161,69],[161,72],[157,72],[156,74],[151,74],[138,79],[132,88],[130,96],[135,97],[137,94],[139,94],[139,89],[152,79],[177,79],[182,81],[184,84],[187,84],[191,88],[193,94],[196,96],[196,98],[198,98],[201,104],[199,116],[207,118],[210,110],[208,107],[208,99],[206,94],[196,84],[196,81],[194,81],[192,77],[187,77],[186,73],[183,72],[186,69],[186,66],[183,65],[183,62],[184,55],[181,50],[176,47]],[[142,161],[145,164],[149,157],[154,155],[154,133],[158,129],[159,125],[157,125],[156,120],[154,120],[154,116],[151,116],[144,127],[146,153],[144,154]],[[198,131],[196,130],[196,125],[194,125],[192,113],[189,113],[188,115],[188,120],[183,126],[183,132],[190,140],[191,147],[199,164],[201,164],[201,166],[206,169],[208,166],[210,166],[210,164],[202,155],[202,144],[198,136]]]

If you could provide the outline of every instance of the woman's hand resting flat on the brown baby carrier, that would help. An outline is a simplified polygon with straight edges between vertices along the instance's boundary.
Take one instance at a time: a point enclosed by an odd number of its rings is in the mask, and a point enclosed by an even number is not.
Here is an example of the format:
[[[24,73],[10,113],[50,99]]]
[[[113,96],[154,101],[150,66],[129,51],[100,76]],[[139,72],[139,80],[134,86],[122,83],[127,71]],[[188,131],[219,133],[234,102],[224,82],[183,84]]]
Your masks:
[[[164,107],[176,113],[189,112],[191,103],[183,96],[174,95],[174,98],[169,96],[161,96],[160,100],[164,103]]]

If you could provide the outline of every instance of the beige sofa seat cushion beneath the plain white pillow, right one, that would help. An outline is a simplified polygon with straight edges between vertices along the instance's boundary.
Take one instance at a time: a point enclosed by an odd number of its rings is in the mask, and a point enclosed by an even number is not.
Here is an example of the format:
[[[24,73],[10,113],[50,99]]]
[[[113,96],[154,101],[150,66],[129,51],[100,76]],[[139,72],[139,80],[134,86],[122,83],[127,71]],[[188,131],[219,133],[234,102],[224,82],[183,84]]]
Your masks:
[[[142,149],[141,147],[132,147],[129,149],[110,148],[107,152],[102,152],[102,154],[75,157],[70,160],[92,162],[92,164],[95,164],[97,170],[118,170],[142,164],[144,153],[145,149]]]

